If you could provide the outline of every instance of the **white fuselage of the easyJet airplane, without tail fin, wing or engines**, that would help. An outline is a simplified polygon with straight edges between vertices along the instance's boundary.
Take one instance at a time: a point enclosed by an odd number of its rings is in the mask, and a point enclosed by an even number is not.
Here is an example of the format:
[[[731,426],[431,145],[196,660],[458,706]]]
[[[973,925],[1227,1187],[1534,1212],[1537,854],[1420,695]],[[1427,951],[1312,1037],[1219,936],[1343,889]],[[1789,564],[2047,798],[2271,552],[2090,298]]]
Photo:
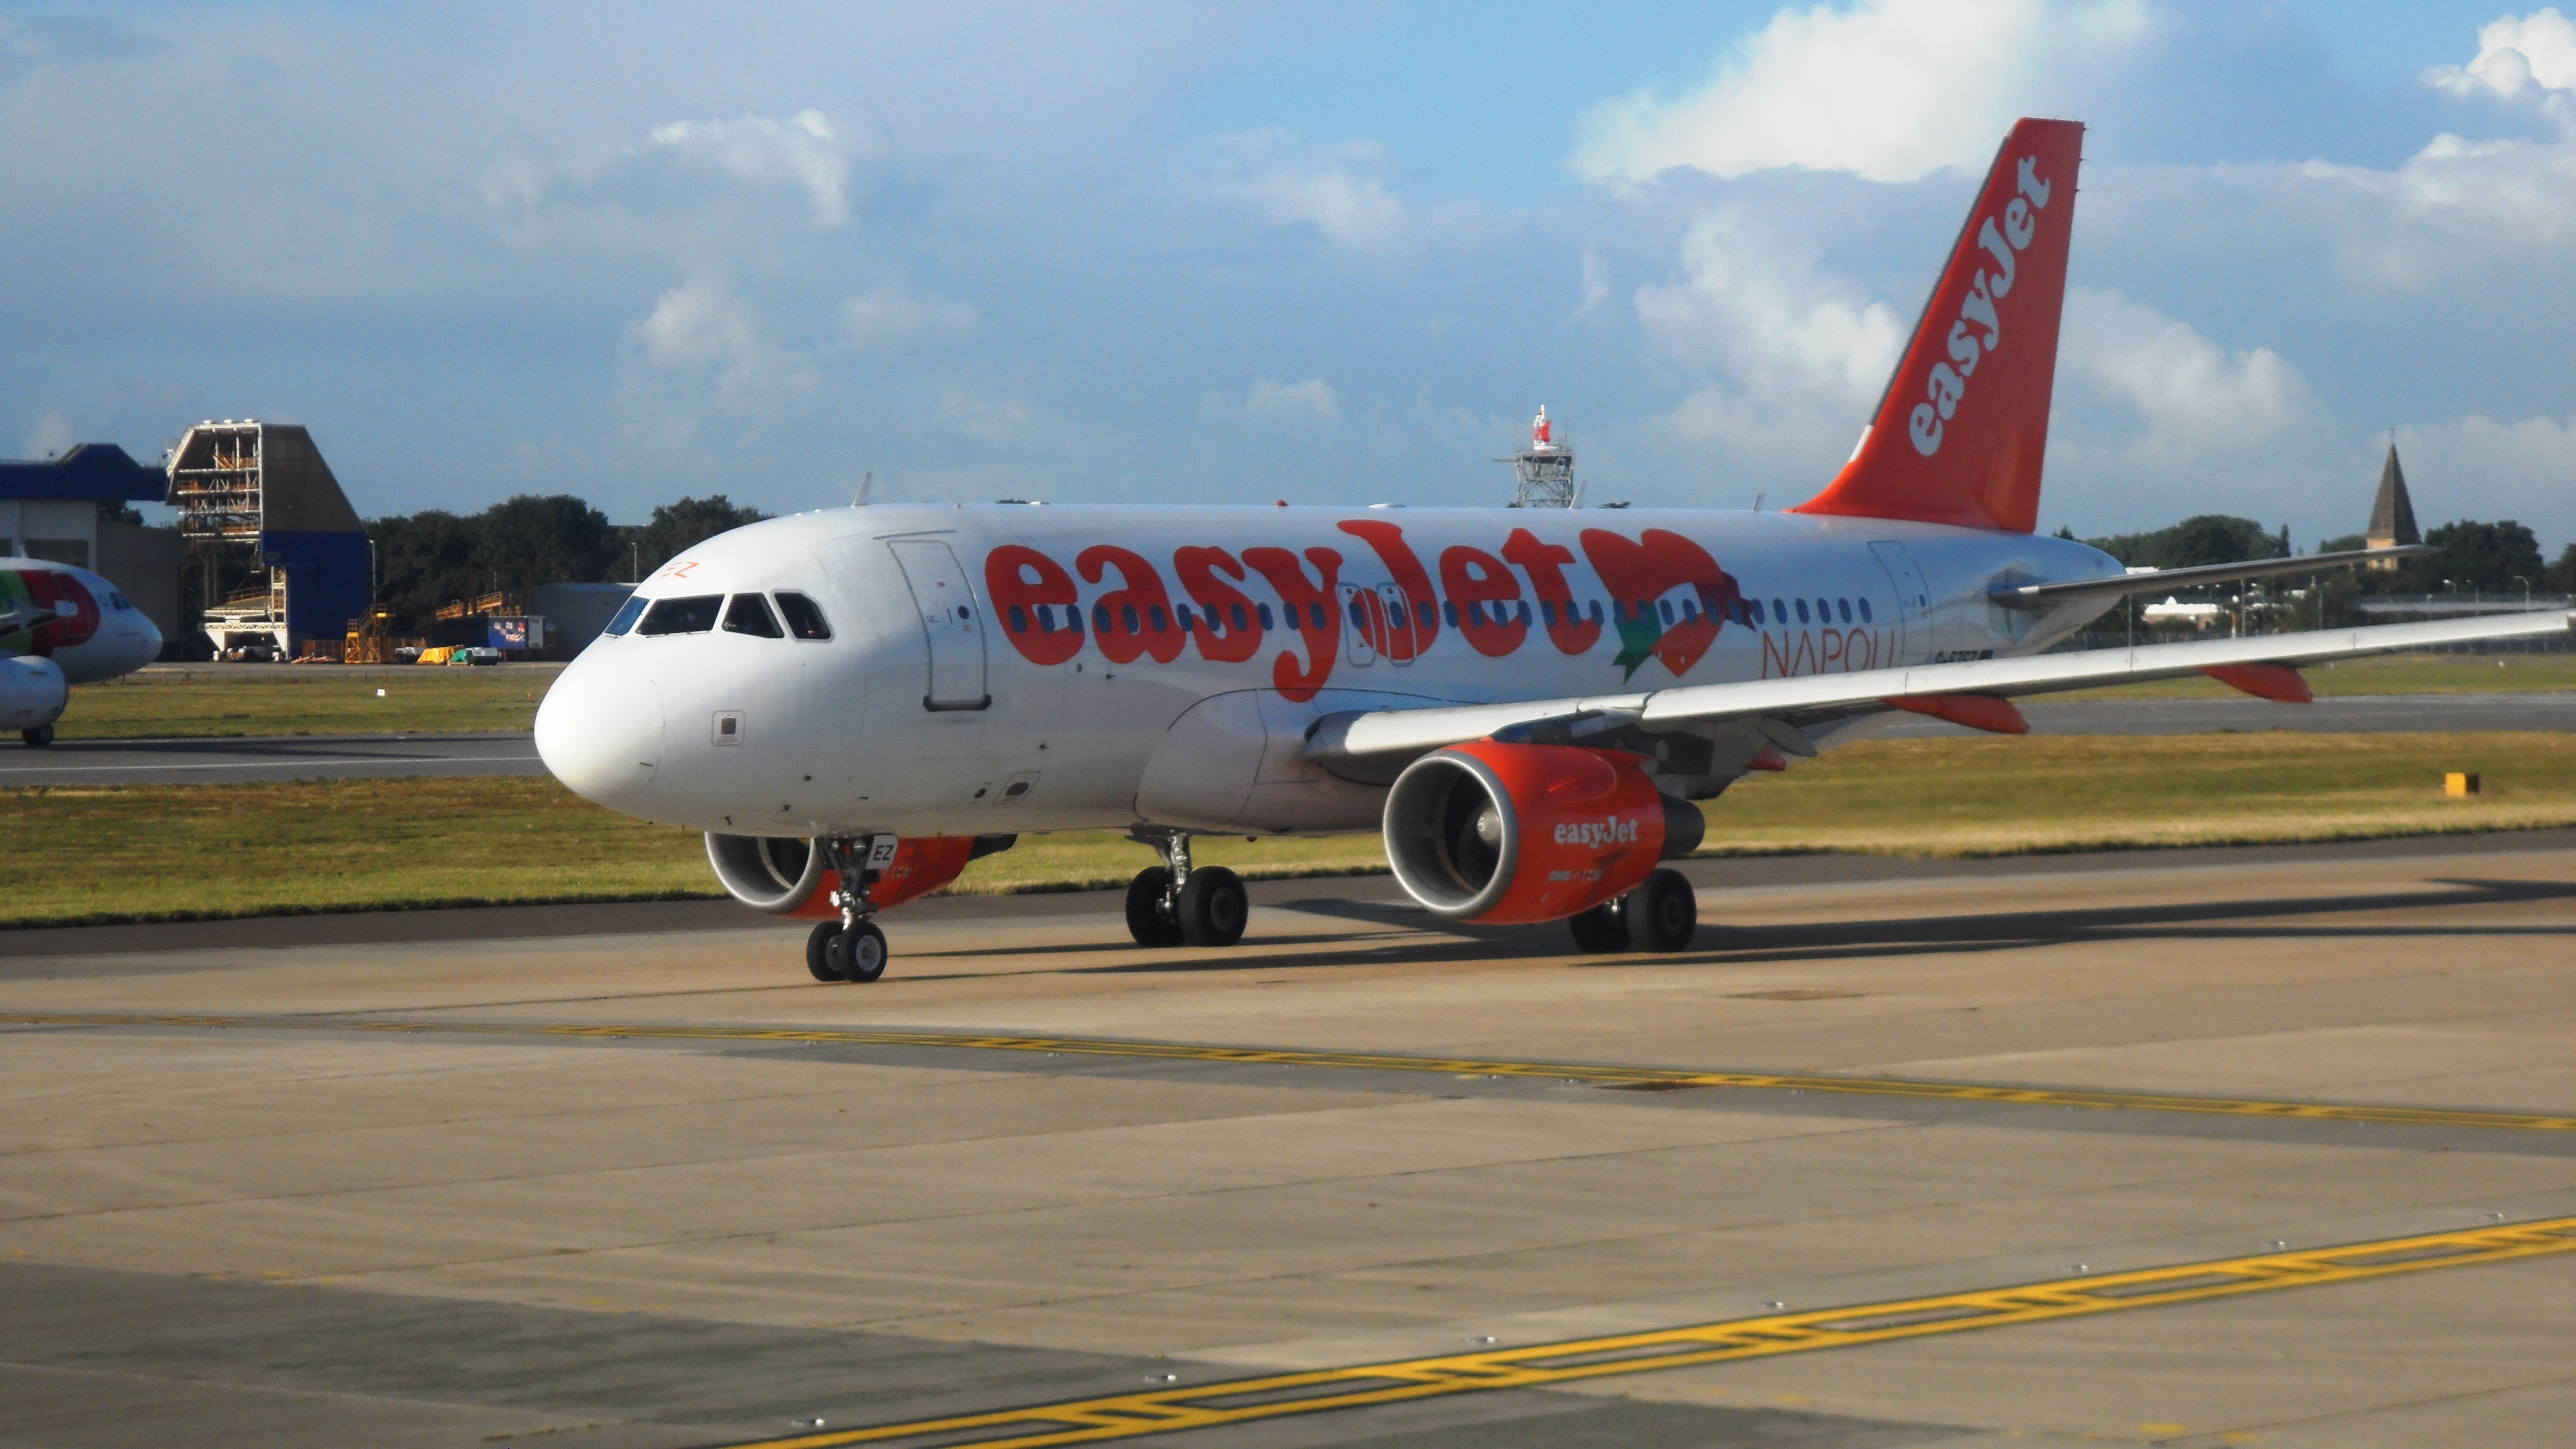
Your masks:
[[[2105,606],[1986,590],[2115,572],[2066,539],[1798,513],[840,508],[654,572],[636,598],[706,601],[672,614],[696,627],[631,606],[538,745],[585,797],[690,830],[1376,830],[1383,789],[1301,753],[1327,714],[2035,652]],[[744,593],[775,637],[721,627]],[[778,627],[781,593],[829,639]],[[1659,781],[1708,797],[1765,740],[1672,745]]]

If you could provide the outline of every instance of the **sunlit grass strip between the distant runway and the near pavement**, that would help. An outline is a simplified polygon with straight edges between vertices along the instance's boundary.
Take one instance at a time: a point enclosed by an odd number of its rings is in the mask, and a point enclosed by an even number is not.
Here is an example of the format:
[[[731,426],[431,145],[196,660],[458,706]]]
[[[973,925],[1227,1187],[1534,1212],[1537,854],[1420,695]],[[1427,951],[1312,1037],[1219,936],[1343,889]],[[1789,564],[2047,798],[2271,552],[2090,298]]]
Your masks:
[[[2442,771],[2486,792],[2445,799]],[[719,895],[698,835],[551,779],[397,779],[0,792],[44,869],[0,926],[204,920]],[[2164,735],[1865,740],[1708,804],[1703,853],[2009,856],[2576,825],[2576,735]],[[1198,841],[1255,879],[1383,871],[1376,835]],[[1028,835],[953,890],[1126,884],[1113,833]]]

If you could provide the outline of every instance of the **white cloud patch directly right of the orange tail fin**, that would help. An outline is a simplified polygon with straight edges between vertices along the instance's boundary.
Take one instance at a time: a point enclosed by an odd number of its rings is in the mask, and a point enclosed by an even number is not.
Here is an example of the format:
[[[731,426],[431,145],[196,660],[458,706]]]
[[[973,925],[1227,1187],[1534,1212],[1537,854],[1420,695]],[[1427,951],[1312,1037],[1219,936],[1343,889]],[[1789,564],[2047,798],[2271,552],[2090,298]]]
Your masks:
[[[2143,302],[2066,289],[2058,376],[2138,413],[2136,462],[2244,451],[2306,418],[2308,382],[2272,348],[2228,351]]]

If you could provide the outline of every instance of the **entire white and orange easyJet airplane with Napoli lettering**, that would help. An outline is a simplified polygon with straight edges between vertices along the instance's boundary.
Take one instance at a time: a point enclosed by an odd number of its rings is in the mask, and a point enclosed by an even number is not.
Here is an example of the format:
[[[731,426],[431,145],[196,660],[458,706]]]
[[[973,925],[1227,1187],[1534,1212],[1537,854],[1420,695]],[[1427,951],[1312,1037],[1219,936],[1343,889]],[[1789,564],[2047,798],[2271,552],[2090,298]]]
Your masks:
[[[706,833],[742,902],[817,918],[819,980],[886,969],[878,910],[1023,833],[1126,830],[1139,944],[1229,946],[1193,835],[1381,830],[1458,920],[1680,949],[1695,802],[1891,712],[2022,732],[2012,699],[2555,634],[2566,611],[2045,652],[2141,590],[2032,534],[2084,129],[2020,121],[1878,415],[1788,513],[858,505],[654,572],[546,694],[574,792]],[[1723,817],[1721,817],[1723,820]]]

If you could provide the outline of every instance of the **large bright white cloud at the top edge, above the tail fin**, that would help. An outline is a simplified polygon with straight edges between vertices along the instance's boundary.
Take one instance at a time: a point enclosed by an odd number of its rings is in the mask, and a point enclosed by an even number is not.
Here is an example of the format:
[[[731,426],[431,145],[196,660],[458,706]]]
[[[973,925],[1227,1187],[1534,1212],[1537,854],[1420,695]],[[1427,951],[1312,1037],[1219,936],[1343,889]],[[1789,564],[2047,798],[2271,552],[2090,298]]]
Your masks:
[[[1680,98],[1638,90],[1582,119],[1571,168],[1636,186],[1674,168],[1770,168],[1914,180],[1971,168],[2030,103],[2025,77],[2146,31],[2141,0],[1857,0],[1780,10]]]

